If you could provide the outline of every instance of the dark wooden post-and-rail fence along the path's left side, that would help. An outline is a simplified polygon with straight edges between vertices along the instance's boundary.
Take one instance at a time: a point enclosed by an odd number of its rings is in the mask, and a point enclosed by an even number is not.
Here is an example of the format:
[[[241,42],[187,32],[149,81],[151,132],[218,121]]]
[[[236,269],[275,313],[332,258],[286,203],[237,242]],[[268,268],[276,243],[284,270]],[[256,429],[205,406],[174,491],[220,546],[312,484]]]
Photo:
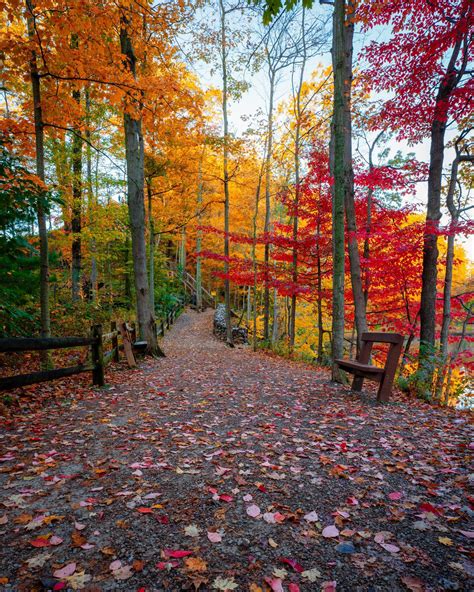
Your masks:
[[[156,325],[158,337],[164,336],[165,328],[170,328],[182,310],[183,305],[177,304],[167,313],[164,319],[159,319]],[[119,337],[122,338],[123,343],[121,345],[119,344]],[[128,339],[129,342],[125,343]],[[111,322],[109,333],[104,333],[102,331],[102,325],[93,325],[90,337],[7,337],[0,339],[0,353],[44,351],[77,347],[89,348],[88,360],[84,363],[77,364],[76,366],[41,370],[39,372],[16,374],[15,376],[0,378],[0,391],[40,382],[47,382],[57,378],[74,376],[75,374],[81,374],[83,372],[92,372],[92,383],[95,386],[104,386],[106,367],[112,361],[118,362],[120,360],[121,349],[128,349],[128,352],[126,352],[128,354],[127,361],[130,364],[130,353],[135,341],[136,331],[134,326],[130,327],[129,331],[123,333],[117,329],[117,323],[115,321]],[[108,344],[109,342],[112,347],[104,353],[104,344]]]

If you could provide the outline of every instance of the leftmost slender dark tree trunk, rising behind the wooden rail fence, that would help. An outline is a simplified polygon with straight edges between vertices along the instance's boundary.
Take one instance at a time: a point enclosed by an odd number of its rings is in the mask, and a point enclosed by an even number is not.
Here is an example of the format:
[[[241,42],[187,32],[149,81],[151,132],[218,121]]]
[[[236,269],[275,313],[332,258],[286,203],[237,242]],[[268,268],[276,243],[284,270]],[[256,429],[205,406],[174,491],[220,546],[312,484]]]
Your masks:
[[[34,4],[26,0],[28,37],[35,38],[34,30]],[[36,52],[32,51],[30,59],[31,89],[34,105],[35,125],[35,146],[36,146],[36,174],[44,182],[44,122],[41,107],[41,87]],[[46,228],[46,214],[41,201],[37,206],[38,232],[40,239],[40,315],[41,315],[41,337],[50,337],[51,321],[49,316],[49,253],[48,253],[48,231]],[[41,356],[43,366],[51,365],[51,357],[47,351]]]

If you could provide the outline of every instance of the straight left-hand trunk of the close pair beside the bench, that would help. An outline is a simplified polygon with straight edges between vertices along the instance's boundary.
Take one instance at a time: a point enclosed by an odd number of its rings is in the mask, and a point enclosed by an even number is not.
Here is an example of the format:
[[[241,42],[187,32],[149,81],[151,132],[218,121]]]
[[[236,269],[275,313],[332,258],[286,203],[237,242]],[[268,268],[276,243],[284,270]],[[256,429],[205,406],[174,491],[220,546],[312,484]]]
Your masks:
[[[344,76],[345,65],[345,1],[335,0],[333,16],[332,64],[334,76],[333,116],[329,161],[332,186],[332,379],[344,382],[344,374],[334,363],[344,353],[344,195],[345,195],[345,139],[344,132]]]

